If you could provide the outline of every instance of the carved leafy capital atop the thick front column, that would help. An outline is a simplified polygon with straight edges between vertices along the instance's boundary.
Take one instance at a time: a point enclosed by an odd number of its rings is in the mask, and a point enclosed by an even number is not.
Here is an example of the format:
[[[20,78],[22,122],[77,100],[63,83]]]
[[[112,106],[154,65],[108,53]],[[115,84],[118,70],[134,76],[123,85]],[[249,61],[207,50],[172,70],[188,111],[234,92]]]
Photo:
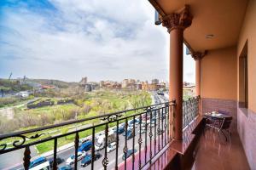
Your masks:
[[[189,5],[185,5],[179,13],[168,14],[161,17],[162,25],[168,29],[168,32],[173,29],[182,29],[189,27],[192,23],[192,15],[189,11]]]

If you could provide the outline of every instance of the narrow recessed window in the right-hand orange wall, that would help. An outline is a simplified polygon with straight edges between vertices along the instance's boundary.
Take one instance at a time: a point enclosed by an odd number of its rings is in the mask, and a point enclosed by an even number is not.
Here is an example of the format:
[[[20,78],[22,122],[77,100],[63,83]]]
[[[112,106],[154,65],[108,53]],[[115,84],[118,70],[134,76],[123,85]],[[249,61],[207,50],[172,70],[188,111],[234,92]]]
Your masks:
[[[239,107],[248,107],[247,42],[239,56]]]

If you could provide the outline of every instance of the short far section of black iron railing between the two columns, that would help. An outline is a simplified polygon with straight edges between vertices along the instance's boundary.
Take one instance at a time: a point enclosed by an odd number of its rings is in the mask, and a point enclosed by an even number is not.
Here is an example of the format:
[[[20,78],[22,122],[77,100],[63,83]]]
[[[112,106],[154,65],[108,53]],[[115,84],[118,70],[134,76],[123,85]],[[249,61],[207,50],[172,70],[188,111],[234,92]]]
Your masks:
[[[195,120],[200,111],[200,96],[183,100],[183,128]]]

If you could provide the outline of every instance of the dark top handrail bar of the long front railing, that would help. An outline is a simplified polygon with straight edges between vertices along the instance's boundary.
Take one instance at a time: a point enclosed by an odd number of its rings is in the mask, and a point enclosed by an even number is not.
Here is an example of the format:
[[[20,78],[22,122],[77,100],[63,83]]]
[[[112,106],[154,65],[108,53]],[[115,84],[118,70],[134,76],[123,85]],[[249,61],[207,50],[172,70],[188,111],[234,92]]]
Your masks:
[[[24,130],[24,131],[19,131],[19,132],[15,132],[15,133],[5,133],[5,134],[1,134],[0,135],[0,139],[5,139],[5,138],[12,137],[12,136],[20,135],[20,134],[26,134],[26,133],[33,133],[33,132],[43,131],[43,130],[46,130],[46,129],[49,129],[49,128],[66,126],[66,125],[70,125],[70,124],[73,124],[73,123],[90,121],[92,119],[97,119],[97,118],[102,118],[102,117],[112,116],[112,115],[118,115],[120,113],[125,113],[125,112],[128,112],[128,111],[137,111],[137,110],[140,110],[140,109],[147,109],[148,107],[152,107],[152,106],[166,105],[166,104],[171,104],[171,105],[175,104],[175,100],[171,100],[171,101],[168,101],[168,102],[164,102],[164,103],[160,103],[160,104],[155,104],[155,105],[147,105],[147,106],[143,106],[143,107],[139,107],[139,108],[134,108],[134,109],[130,109],[130,110],[125,110],[125,111],[117,111],[117,112],[108,113],[108,114],[101,115],[101,116],[91,116],[91,117],[80,119],[80,120],[61,122],[61,123],[58,123],[58,124],[55,124],[55,125],[49,125],[49,126],[45,126],[45,127],[32,128],[32,129],[28,129],[28,130]]]

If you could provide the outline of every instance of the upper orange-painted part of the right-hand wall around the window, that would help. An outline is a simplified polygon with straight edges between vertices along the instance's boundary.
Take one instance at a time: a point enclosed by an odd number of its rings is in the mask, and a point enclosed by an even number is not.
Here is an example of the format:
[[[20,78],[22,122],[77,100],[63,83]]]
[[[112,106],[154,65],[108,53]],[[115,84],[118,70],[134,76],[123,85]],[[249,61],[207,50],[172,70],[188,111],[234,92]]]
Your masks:
[[[253,112],[256,112],[256,18],[255,17],[256,17],[256,1],[251,0],[247,5],[247,13],[245,15],[245,18],[241,27],[240,37],[237,44],[237,61],[239,60],[239,55],[241,54],[241,50],[247,41],[248,109],[252,110]],[[239,63],[237,62],[237,65],[238,64]],[[237,78],[238,76],[239,75],[237,75]],[[239,86],[238,81],[237,81],[237,86]]]

